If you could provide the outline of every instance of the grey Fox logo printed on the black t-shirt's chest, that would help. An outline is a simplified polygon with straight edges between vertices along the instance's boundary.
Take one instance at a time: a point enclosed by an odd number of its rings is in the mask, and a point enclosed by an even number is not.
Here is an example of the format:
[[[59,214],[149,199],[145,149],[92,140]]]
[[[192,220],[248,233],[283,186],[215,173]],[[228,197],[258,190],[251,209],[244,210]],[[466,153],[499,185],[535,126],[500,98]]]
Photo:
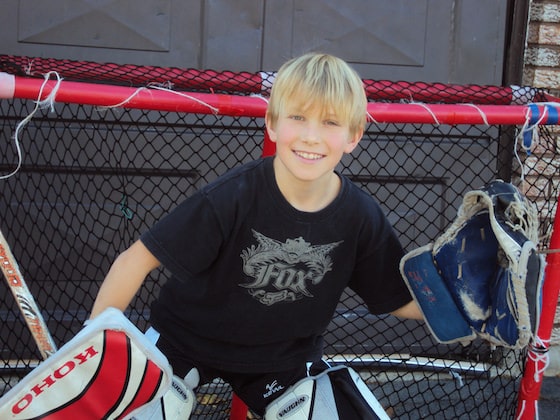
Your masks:
[[[328,254],[342,243],[313,246],[302,237],[282,243],[256,231],[253,235],[258,245],[241,253],[243,271],[253,281],[240,286],[268,306],[313,297],[309,285],[319,284],[331,270]]]

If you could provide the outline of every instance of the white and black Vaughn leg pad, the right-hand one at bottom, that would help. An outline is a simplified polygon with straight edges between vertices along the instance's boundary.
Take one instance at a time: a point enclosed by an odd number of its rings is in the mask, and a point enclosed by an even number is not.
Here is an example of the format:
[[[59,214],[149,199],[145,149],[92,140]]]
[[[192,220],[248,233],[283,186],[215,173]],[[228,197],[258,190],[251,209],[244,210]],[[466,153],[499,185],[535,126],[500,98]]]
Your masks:
[[[291,386],[266,408],[265,420],[389,420],[360,378],[346,366],[329,368]]]

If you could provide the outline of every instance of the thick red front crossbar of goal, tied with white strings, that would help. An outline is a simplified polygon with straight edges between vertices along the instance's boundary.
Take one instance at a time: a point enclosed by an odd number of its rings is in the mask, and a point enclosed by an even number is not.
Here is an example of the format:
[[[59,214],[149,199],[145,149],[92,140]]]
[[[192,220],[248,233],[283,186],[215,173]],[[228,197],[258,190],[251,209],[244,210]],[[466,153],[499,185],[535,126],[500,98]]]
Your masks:
[[[131,88],[70,81],[41,80],[2,74],[0,98],[45,100],[53,91],[54,102],[78,103],[100,107],[150,109],[195,114],[264,117],[267,102],[259,96],[239,96],[196,92],[177,92],[156,88]],[[40,95],[41,93],[41,95]],[[558,124],[557,103],[529,105],[471,104],[368,104],[372,121],[419,124]]]

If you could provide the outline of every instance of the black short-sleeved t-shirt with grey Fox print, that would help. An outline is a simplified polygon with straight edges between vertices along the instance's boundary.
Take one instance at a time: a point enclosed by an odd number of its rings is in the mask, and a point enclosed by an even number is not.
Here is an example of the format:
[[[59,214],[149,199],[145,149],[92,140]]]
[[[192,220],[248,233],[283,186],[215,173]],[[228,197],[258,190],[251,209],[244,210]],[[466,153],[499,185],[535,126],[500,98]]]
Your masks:
[[[272,162],[228,172],[141,237],[171,273],[151,321],[191,360],[235,372],[290,369],[321,357],[345,287],[372,313],[411,300],[402,248],[371,196],[341,176],[329,206],[298,211]]]

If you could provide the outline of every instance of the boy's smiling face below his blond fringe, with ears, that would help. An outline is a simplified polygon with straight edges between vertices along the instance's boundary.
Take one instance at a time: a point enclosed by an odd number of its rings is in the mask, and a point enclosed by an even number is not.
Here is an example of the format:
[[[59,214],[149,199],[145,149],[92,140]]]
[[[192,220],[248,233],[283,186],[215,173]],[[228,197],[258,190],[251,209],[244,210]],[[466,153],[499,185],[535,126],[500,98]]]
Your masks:
[[[334,110],[288,104],[274,123],[267,115],[270,139],[276,156],[296,179],[314,181],[332,174],[345,153],[350,153],[362,137],[352,134],[348,123]]]

